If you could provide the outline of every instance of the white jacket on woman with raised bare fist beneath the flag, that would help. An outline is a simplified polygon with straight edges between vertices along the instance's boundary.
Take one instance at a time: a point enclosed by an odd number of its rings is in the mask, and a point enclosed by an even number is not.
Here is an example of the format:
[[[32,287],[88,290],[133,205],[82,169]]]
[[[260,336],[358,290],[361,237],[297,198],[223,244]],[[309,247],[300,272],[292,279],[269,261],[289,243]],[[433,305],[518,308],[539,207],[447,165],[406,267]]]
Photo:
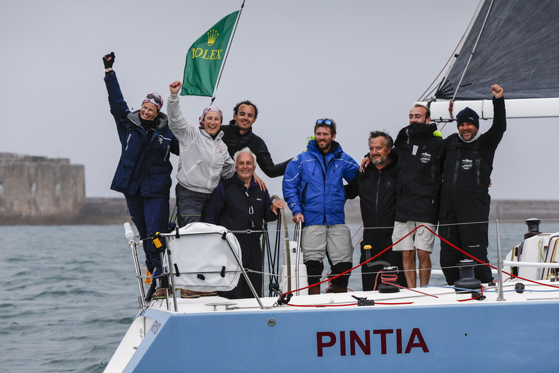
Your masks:
[[[179,96],[170,95],[167,103],[169,128],[179,140],[179,184],[191,191],[212,193],[220,178],[232,177],[235,164],[220,131],[212,138],[199,126],[188,124],[179,107]]]

